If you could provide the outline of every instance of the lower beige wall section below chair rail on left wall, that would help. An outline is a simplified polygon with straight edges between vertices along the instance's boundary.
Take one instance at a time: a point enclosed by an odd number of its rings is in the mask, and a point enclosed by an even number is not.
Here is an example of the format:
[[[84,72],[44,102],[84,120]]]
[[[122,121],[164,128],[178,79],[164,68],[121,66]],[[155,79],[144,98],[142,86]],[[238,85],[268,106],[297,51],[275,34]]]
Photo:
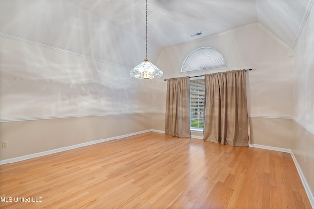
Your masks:
[[[150,113],[0,123],[0,161],[151,129]]]

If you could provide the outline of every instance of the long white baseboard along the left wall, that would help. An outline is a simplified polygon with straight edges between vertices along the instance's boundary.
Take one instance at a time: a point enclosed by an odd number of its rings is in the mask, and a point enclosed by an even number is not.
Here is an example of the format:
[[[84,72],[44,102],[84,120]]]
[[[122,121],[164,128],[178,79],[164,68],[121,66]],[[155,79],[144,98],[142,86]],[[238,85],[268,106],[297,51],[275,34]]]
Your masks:
[[[57,152],[63,152],[66,150],[71,150],[71,149],[76,149],[79,147],[84,147],[84,146],[88,146],[88,145],[92,145],[92,144],[98,144],[98,143],[102,143],[105,141],[111,141],[114,139],[121,139],[124,137],[130,137],[136,134],[142,134],[142,133],[146,133],[146,132],[150,132],[153,130],[145,130],[145,131],[139,131],[139,132],[134,132],[131,134],[125,134],[125,135],[120,135],[120,136],[116,136],[116,137],[110,137],[110,138],[106,138],[106,139],[99,139],[99,140],[95,140],[95,141],[89,141],[89,142],[85,142],[85,143],[81,143],[81,144],[76,144],[76,145],[72,145],[72,146],[67,146],[67,147],[61,147],[58,149],[52,149],[52,150],[48,150],[48,151],[44,151],[44,152],[38,152],[38,153],[34,153],[34,154],[30,154],[30,155],[24,155],[24,156],[20,156],[20,157],[16,157],[16,158],[10,158],[10,159],[6,159],[6,160],[2,160],[0,161],[0,165],[3,164],[8,164],[8,163],[14,163],[14,162],[18,162],[18,161],[24,161],[27,159],[31,159],[31,158],[36,158],[36,157],[41,157],[44,155],[50,155],[53,153],[57,153]]]

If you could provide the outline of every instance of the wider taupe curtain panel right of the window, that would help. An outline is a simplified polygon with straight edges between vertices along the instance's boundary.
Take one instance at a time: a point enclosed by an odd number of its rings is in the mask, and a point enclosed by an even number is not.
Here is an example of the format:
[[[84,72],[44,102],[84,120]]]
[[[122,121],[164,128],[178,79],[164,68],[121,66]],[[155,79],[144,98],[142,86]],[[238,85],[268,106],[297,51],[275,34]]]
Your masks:
[[[207,74],[204,141],[248,146],[245,70]]]

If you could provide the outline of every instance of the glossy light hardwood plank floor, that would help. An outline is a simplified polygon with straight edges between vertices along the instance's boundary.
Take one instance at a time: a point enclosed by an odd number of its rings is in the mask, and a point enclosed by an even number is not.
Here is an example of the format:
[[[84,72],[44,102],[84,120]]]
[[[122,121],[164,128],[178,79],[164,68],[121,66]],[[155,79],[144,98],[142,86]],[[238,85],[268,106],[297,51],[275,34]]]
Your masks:
[[[1,165],[0,197],[23,209],[311,209],[289,153],[155,132]]]

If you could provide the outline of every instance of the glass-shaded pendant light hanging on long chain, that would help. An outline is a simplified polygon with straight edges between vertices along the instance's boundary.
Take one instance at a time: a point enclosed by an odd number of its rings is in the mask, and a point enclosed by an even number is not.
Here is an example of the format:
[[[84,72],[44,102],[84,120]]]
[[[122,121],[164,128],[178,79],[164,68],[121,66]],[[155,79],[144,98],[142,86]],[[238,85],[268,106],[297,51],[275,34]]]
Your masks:
[[[147,59],[147,0],[146,0],[146,57],[144,62],[137,65],[135,68],[130,70],[130,76],[133,78],[139,79],[152,79],[160,78],[163,75],[163,72],[158,69],[151,62],[148,62]]]

